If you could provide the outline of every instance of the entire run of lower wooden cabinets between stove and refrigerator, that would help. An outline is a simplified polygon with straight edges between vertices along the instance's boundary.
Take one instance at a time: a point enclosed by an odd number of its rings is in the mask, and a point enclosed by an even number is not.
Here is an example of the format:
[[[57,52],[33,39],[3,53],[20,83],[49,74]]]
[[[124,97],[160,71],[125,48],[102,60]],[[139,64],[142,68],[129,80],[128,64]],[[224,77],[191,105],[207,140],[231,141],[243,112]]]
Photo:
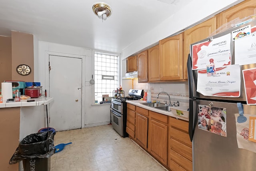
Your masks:
[[[193,170],[188,121],[128,103],[126,132],[168,170]]]

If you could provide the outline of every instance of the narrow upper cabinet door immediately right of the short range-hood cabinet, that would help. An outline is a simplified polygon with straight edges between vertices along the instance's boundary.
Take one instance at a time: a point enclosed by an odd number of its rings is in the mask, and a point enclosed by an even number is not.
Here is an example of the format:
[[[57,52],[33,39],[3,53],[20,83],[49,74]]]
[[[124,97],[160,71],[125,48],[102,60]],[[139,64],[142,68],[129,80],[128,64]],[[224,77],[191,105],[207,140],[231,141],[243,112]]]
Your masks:
[[[148,82],[148,51],[138,54],[138,82]]]

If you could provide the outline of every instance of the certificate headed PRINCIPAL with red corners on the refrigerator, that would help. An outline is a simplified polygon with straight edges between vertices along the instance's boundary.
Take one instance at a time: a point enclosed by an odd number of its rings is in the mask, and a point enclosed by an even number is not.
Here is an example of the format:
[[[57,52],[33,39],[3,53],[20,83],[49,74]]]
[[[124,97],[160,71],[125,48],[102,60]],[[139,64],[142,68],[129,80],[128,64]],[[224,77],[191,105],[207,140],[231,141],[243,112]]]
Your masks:
[[[206,65],[222,67],[231,64],[231,34],[192,46],[192,70],[205,69]]]

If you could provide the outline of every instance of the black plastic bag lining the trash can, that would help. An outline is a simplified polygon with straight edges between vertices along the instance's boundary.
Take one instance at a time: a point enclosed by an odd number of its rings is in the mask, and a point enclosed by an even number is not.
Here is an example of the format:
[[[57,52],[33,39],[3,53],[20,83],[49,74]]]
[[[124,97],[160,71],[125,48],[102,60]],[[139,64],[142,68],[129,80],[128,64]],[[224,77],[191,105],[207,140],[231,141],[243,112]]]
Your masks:
[[[52,131],[32,133],[20,142],[9,164],[15,164],[27,158],[49,158],[55,153]]]

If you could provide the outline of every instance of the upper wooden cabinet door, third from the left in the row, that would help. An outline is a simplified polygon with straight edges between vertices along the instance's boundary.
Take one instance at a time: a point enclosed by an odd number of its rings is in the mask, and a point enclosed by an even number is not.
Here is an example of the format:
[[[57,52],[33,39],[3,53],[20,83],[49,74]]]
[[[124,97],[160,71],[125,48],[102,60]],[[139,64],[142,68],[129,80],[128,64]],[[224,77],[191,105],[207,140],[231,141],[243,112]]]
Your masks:
[[[159,74],[159,45],[148,49],[148,81],[160,80]]]

